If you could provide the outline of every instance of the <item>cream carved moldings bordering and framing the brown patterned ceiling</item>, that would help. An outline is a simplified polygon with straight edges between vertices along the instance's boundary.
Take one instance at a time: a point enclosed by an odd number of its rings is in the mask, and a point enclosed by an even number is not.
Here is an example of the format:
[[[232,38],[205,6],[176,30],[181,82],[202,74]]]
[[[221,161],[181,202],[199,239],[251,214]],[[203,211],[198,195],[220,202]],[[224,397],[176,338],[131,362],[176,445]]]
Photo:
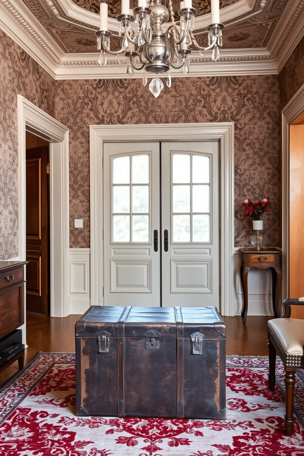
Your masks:
[[[228,27],[231,28],[234,24],[244,20],[244,17],[254,18],[263,13],[266,1],[239,0],[222,8],[222,21],[227,22]],[[268,9],[274,2],[275,0],[271,0],[268,3]],[[58,7],[59,4],[60,7]],[[276,4],[278,5],[278,0]],[[211,52],[206,52],[203,57],[200,57],[199,52],[193,51],[190,59],[190,73],[187,77],[277,74],[304,35],[304,21],[300,20],[304,12],[304,0],[293,1],[292,4],[293,8],[284,11],[279,18],[267,48],[221,49],[221,57],[218,62],[211,61]],[[0,28],[54,79],[127,77],[124,56],[119,56],[118,59],[109,56],[108,64],[100,67],[97,63],[98,52],[63,52],[52,36],[48,34],[46,28],[21,0],[0,0],[0,5],[3,9],[0,16]],[[47,0],[46,5],[50,13],[60,21],[86,30],[98,29],[98,15],[77,6],[71,0]],[[200,28],[204,28],[205,22],[208,24],[205,16],[197,18],[196,28],[198,24]],[[116,24],[115,20],[109,19],[109,26],[113,25],[114,28]],[[185,77],[184,74],[176,71],[170,71],[170,73],[174,77]],[[141,74],[138,73],[135,77],[141,77]]]

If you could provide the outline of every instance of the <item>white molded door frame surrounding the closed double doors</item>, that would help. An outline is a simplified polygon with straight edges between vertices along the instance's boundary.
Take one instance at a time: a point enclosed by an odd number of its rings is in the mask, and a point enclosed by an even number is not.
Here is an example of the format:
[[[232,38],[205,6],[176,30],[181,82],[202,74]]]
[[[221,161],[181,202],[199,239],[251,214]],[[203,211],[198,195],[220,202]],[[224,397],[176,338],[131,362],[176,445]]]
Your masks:
[[[103,306],[103,142],[220,141],[221,314],[234,316],[234,123],[90,126],[91,306]]]

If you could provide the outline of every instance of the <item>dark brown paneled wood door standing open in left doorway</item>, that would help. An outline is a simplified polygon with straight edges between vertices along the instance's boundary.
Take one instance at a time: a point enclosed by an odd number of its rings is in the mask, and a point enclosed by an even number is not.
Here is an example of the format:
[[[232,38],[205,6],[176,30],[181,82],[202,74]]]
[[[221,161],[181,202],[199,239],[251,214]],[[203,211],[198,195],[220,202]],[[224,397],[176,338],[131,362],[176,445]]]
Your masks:
[[[26,150],[26,310],[48,315],[48,147]]]

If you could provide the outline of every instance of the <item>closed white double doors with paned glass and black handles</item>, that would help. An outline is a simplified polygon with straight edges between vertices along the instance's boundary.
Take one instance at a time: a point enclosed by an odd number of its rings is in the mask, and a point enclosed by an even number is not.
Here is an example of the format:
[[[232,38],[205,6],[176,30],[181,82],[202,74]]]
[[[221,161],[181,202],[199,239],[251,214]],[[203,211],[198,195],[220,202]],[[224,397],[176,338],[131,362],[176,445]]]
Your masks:
[[[218,150],[104,144],[105,306],[219,309]]]

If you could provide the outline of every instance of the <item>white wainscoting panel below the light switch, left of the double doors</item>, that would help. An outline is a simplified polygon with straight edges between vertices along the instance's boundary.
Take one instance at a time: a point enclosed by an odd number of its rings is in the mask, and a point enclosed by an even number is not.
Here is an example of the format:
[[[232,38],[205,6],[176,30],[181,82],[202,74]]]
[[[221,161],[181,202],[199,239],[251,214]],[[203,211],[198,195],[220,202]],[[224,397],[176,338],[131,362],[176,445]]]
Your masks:
[[[90,249],[69,251],[69,314],[83,314],[90,306]]]

